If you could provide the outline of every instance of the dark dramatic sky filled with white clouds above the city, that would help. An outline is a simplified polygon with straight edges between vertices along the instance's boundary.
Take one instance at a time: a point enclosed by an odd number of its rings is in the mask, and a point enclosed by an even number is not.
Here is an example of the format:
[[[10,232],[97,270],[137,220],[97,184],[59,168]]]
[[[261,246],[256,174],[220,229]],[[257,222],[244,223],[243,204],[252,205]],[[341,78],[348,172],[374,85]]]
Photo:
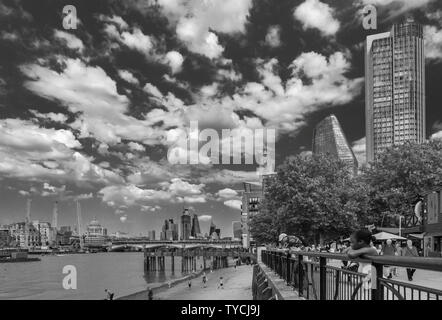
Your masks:
[[[377,30],[362,9],[377,8]],[[74,5],[76,29],[64,29]],[[146,235],[183,207],[232,236],[254,164],[177,164],[200,129],[274,129],[276,165],[311,152],[335,114],[365,161],[367,35],[411,15],[425,32],[427,137],[442,137],[438,0],[3,0],[0,2],[0,224],[74,225]],[[187,140],[186,140],[187,141]],[[200,142],[201,146],[201,142]],[[174,149],[175,148],[175,149]],[[169,156],[168,156],[169,155]],[[182,153],[177,153],[181,157]],[[176,160],[176,159],[175,159]]]

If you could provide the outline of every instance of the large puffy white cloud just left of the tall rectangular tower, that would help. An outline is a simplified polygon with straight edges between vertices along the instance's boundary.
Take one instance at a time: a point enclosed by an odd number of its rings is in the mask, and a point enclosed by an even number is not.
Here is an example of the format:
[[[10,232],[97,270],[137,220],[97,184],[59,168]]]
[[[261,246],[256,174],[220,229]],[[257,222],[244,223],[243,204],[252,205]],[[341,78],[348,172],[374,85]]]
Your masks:
[[[233,101],[224,103],[249,109],[267,120],[267,127],[295,132],[305,124],[306,115],[330,106],[342,105],[356,97],[363,79],[348,79],[348,58],[342,52],[329,57],[304,52],[290,65],[292,76],[285,85],[276,73],[278,61],[257,62],[261,83],[249,82]]]

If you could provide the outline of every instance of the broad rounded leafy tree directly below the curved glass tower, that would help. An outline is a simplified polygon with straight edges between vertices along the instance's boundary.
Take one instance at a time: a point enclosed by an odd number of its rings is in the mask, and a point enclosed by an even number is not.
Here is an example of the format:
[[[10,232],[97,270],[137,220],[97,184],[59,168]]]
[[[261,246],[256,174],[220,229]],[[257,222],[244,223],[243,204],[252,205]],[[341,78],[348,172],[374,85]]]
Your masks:
[[[357,226],[357,183],[345,163],[329,156],[295,156],[278,168],[259,214],[251,219],[255,239],[285,232],[319,242],[348,234]],[[272,233],[264,234],[262,222]],[[261,224],[261,225],[260,225]],[[264,231],[264,232],[263,232]]]

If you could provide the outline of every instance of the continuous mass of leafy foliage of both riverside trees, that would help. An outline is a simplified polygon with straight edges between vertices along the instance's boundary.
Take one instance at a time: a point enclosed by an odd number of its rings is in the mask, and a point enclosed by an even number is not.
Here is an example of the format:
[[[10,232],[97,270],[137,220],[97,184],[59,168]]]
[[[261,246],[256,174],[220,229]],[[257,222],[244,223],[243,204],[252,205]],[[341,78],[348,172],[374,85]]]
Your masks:
[[[368,224],[397,226],[397,215],[414,214],[422,193],[442,185],[442,142],[391,147],[353,177],[330,156],[295,156],[278,167],[252,236],[274,242],[281,232],[309,242],[348,236]]]

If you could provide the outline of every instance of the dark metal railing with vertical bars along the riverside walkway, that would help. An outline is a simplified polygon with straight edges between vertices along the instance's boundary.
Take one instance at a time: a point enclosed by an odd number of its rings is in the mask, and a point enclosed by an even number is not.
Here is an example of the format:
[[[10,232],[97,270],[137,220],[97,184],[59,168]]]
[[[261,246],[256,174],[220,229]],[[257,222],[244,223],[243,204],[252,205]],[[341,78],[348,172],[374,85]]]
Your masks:
[[[347,255],[325,252],[262,250],[262,262],[309,300],[442,300],[442,291],[384,277],[384,268],[404,267],[441,272],[442,259],[369,256],[371,276],[341,266]],[[369,267],[370,268],[370,267]]]

